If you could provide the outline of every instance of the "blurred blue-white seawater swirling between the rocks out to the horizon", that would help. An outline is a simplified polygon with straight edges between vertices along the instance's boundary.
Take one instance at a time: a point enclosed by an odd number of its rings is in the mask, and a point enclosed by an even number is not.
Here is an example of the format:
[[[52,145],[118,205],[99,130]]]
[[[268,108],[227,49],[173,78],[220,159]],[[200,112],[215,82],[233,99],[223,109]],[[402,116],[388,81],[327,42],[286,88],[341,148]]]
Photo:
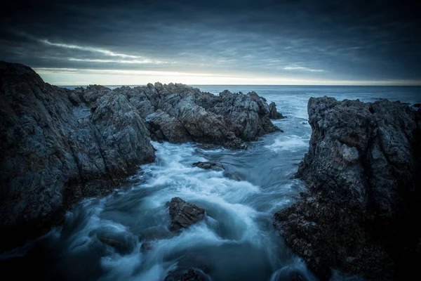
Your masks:
[[[311,96],[338,100],[377,98],[420,103],[420,87],[356,86],[198,86],[202,91],[255,91],[288,118],[274,120],[284,133],[250,143],[248,150],[203,150],[195,143],[155,143],[156,162],[142,165],[130,183],[112,195],[92,198],[67,213],[62,228],[0,256],[14,278],[44,280],[163,280],[189,268],[208,280],[316,280],[290,252],[272,226],[275,211],[292,204],[303,184],[294,174],[308,149]],[[192,167],[220,162],[222,171]],[[206,218],[182,231],[168,230],[167,201],[181,197],[206,210]],[[110,237],[128,245],[126,254],[102,244]],[[141,251],[143,242],[152,242]],[[5,273],[5,274],[6,274]],[[341,279],[342,277],[336,277]],[[342,280],[342,279],[341,279]]]

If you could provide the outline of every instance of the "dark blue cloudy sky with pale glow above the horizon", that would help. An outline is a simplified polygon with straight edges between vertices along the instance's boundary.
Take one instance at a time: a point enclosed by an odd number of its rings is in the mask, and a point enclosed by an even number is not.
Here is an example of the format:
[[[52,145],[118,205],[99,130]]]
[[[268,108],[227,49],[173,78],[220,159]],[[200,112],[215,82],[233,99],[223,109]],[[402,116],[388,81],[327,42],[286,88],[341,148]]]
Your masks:
[[[62,86],[421,85],[421,1],[3,0],[0,60]]]

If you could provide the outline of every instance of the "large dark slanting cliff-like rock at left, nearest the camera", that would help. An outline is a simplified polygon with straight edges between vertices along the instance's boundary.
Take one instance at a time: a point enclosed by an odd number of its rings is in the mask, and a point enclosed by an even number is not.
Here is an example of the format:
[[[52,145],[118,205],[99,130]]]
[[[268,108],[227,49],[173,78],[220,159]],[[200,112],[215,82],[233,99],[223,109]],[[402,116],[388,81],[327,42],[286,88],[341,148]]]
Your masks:
[[[0,250],[45,233],[76,200],[106,194],[154,161],[145,121],[126,96],[103,86],[60,89],[4,62],[0,139]]]

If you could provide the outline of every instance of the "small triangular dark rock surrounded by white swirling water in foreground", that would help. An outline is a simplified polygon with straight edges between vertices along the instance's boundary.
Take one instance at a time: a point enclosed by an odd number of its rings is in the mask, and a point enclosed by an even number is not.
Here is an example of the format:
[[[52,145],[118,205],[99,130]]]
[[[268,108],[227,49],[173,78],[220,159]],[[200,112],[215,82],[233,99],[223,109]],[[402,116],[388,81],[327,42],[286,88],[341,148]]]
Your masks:
[[[205,210],[182,200],[180,197],[174,197],[171,202],[167,202],[171,216],[170,230],[180,231],[182,228],[188,228],[192,224],[200,221],[205,215]]]

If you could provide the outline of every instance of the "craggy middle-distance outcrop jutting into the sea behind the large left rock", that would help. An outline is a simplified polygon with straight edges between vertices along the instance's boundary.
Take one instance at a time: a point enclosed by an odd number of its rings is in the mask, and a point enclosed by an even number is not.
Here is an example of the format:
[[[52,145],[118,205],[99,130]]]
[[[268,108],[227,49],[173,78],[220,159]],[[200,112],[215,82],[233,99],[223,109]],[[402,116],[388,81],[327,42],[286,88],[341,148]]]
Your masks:
[[[103,94],[104,89],[98,90]],[[223,91],[215,96],[173,83],[125,86],[114,92],[126,96],[145,117],[156,141],[196,141],[243,149],[246,141],[281,131],[269,119],[269,105],[255,92]],[[279,116],[276,107],[272,114]]]

